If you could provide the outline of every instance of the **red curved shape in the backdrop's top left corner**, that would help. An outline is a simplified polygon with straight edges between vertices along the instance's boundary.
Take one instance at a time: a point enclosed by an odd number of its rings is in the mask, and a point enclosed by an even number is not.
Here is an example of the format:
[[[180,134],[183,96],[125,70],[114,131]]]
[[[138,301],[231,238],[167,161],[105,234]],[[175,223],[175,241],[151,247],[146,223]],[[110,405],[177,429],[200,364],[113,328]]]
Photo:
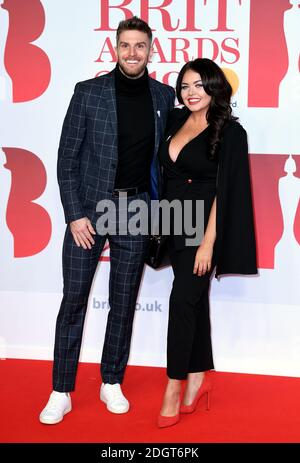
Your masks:
[[[31,42],[45,27],[45,11],[40,0],[4,0],[9,12],[4,63],[13,83],[13,101],[34,100],[48,88],[51,66],[47,54]]]

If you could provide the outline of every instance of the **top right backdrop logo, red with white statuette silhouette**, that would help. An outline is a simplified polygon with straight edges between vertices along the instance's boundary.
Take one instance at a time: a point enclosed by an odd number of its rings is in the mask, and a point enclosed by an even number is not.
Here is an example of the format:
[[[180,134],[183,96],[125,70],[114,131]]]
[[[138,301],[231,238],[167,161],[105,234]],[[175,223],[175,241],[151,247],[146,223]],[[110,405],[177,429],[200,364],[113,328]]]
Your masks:
[[[281,106],[300,89],[300,0],[252,0],[248,106]],[[295,96],[295,95],[294,95]]]

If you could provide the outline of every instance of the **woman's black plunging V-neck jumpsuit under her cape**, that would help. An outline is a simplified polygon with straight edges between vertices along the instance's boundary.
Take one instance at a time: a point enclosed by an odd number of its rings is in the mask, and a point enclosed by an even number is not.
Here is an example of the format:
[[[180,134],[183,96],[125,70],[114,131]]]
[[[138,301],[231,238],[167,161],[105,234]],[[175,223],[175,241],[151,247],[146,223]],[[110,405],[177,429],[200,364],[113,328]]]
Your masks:
[[[195,200],[203,200],[205,231],[216,196],[218,165],[208,157],[209,127],[187,143],[176,161],[172,161],[169,156],[169,144],[185,120],[182,120],[179,126],[176,125],[175,132],[172,132],[171,126],[171,135],[165,137],[160,147],[159,159],[165,177],[163,197],[168,201],[179,200],[183,209],[184,200],[191,200],[193,225]],[[181,236],[171,233],[169,239],[175,278],[170,295],[167,374],[173,379],[185,379],[188,373],[214,368],[208,300],[214,257],[210,272],[203,276],[194,275],[193,267],[198,245],[187,246],[186,238],[187,235],[183,232]]]

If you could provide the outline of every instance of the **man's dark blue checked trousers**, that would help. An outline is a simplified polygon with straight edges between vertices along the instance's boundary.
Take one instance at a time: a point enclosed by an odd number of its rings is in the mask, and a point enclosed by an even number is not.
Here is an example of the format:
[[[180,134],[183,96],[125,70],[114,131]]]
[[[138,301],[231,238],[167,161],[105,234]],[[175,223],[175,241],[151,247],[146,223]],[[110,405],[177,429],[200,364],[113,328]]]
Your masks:
[[[135,305],[149,236],[95,235],[94,239],[91,250],[83,249],[75,244],[69,226],[65,233],[63,299],[56,321],[53,364],[53,389],[59,392],[70,392],[75,388],[88,298],[106,239],[110,244],[110,310],[101,359],[102,381],[122,383],[129,357]]]

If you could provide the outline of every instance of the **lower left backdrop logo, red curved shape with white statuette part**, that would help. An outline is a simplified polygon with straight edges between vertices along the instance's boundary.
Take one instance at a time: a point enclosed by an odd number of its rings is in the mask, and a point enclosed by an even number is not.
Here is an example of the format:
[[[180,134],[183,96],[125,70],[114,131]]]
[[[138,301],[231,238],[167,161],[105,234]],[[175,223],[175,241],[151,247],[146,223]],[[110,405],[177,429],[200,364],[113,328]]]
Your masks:
[[[44,164],[20,148],[0,149],[1,254],[28,257],[41,252],[51,237],[48,212],[35,201],[47,184]]]

